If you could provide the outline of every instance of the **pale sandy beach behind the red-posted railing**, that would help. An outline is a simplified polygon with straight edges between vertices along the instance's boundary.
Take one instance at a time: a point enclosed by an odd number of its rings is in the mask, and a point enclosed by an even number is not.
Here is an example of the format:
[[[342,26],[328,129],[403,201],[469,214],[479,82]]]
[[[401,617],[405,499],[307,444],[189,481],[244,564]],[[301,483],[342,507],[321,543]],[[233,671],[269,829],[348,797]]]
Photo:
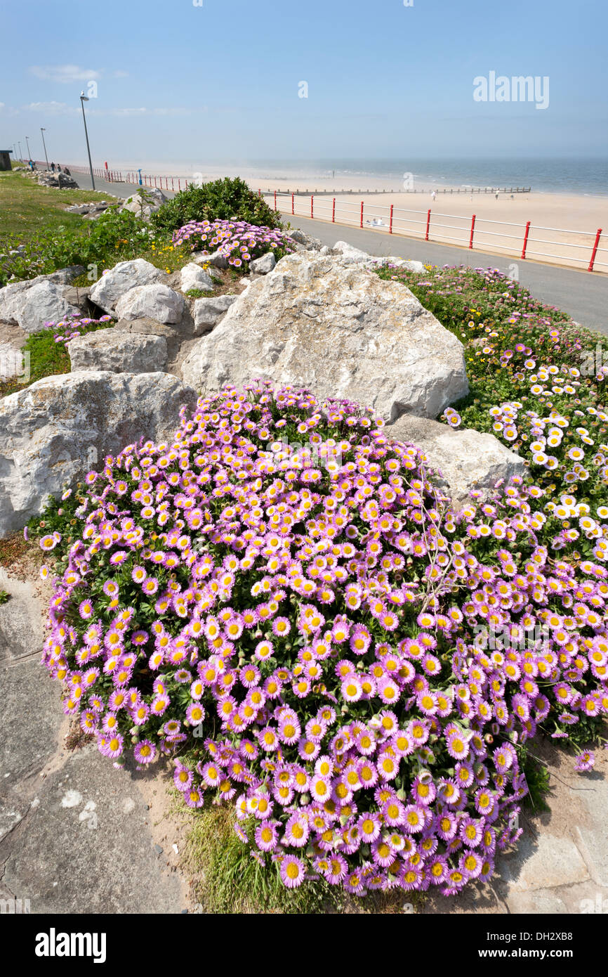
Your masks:
[[[123,174],[135,169],[128,160],[115,164]],[[304,170],[304,166],[302,168]],[[379,232],[385,233],[390,224],[390,207],[393,208],[392,233],[413,237],[425,237],[427,212],[429,240],[467,247],[470,239],[471,219],[475,215],[473,247],[488,253],[512,255],[520,258],[530,222],[526,243],[526,257],[550,264],[567,265],[586,270],[593,249],[595,234],[601,228],[604,234],[599,240],[595,257],[596,273],[608,273],[608,195],[568,194],[539,192],[465,191],[463,187],[450,189],[425,183],[415,176],[404,174],[410,191],[404,191],[404,180],[379,176],[345,176],[331,173],[286,174],[277,169],[255,170],[249,166],[148,163],[144,173],[169,175],[195,180],[216,180],[223,176],[241,176],[256,191],[262,191],[285,213],[310,217],[310,196],[315,218],[331,221],[333,198],[336,197],[336,224],[359,227],[361,202],[363,202],[363,226],[373,227],[382,221]],[[176,182],[177,189],[177,182]],[[431,193],[437,190],[435,199]],[[459,191],[460,190],[460,191]],[[415,191],[415,192],[414,192]],[[458,192],[457,192],[458,191]],[[337,234],[339,237],[340,234]]]

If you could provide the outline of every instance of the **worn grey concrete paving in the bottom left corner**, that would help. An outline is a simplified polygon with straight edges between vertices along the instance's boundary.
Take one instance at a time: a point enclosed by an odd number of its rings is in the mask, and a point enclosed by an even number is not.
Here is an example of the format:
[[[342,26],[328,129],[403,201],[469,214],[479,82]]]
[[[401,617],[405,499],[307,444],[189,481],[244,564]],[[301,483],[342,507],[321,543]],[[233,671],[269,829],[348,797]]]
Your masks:
[[[95,744],[66,748],[59,685],[39,664],[41,598],[4,572],[0,584],[13,595],[0,607],[0,900],[28,900],[30,913],[184,912],[148,775],[115,770]]]

